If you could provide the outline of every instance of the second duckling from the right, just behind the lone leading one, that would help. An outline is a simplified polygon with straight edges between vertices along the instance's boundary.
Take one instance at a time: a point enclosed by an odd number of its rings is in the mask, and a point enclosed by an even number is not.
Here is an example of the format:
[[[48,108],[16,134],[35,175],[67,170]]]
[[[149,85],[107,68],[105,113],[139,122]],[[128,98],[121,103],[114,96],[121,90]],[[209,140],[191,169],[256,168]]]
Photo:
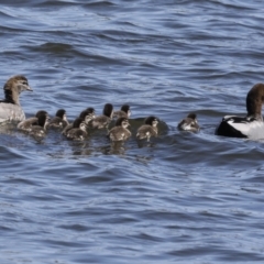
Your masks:
[[[147,139],[150,141],[151,136],[157,136],[157,124],[158,120],[156,117],[151,116],[146,118],[145,123],[138,129],[138,140]]]

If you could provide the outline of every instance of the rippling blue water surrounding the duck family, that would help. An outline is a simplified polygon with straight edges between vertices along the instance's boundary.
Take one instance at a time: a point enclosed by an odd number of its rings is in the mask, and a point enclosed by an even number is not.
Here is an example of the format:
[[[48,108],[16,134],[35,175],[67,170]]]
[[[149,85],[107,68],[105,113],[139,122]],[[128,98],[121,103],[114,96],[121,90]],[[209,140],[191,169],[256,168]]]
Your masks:
[[[26,117],[132,109],[132,139],[0,128],[0,263],[263,263],[263,142],[216,136],[263,81],[262,1],[1,1]],[[196,112],[201,131],[177,123]],[[160,136],[139,145],[144,118]]]

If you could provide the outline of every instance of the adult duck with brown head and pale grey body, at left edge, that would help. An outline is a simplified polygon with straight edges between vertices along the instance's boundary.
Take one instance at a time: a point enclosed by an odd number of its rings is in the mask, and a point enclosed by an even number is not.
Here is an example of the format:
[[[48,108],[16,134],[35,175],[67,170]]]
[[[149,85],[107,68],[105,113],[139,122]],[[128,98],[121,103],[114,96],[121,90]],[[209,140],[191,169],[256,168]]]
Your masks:
[[[15,75],[4,84],[4,99],[0,100],[0,123],[25,120],[24,111],[20,106],[20,94],[25,90],[32,91],[23,75]]]

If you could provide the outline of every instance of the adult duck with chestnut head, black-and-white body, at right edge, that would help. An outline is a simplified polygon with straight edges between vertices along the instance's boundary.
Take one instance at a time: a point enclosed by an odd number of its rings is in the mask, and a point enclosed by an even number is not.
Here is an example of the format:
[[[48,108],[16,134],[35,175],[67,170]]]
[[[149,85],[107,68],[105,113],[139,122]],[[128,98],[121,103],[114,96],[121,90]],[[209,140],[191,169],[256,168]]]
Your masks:
[[[246,95],[245,117],[226,116],[216,129],[217,135],[261,140],[264,139],[262,103],[264,102],[264,84],[254,85]]]

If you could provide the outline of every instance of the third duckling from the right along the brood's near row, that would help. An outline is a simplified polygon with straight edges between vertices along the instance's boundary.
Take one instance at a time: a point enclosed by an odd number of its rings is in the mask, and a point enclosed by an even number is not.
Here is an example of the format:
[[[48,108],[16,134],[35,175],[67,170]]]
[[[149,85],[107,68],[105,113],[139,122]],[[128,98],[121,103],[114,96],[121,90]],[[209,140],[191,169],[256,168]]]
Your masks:
[[[119,118],[116,122],[116,127],[113,127],[108,136],[111,141],[125,141],[131,136],[131,132],[128,130],[130,125],[128,118]]]

